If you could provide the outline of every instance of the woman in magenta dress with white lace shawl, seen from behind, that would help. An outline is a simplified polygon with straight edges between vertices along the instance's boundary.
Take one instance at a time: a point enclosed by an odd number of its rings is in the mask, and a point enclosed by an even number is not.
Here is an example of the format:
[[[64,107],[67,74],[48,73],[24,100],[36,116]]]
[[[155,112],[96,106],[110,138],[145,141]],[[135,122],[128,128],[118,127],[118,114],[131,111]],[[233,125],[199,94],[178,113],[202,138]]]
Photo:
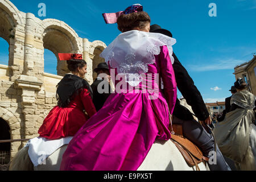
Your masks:
[[[112,14],[104,16],[113,21]],[[123,33],[101,53],[115,78],[115,92],[69,142],[61,170],[137,170],[156,138],[171,138],[175,39],[149,33],[150,16],[138,4],[123,11],[117,23]]]

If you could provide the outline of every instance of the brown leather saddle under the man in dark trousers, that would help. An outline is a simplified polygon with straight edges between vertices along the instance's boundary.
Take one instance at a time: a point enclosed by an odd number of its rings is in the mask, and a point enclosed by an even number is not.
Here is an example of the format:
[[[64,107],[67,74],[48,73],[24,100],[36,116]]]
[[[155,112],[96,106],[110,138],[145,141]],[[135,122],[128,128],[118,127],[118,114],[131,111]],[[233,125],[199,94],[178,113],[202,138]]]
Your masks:
[[[172,142],[179,149],[188,166],[196,166],[196,170],[200,171],[198,164],[204,162],[206,165],[205,162],[209,159],[203,156],[203,152],[195,144],[183,136],[182,125],[173,123],[172,129],[175,132],[175,134],[172,134]],[[171,125],[169,130],[171,131]]]

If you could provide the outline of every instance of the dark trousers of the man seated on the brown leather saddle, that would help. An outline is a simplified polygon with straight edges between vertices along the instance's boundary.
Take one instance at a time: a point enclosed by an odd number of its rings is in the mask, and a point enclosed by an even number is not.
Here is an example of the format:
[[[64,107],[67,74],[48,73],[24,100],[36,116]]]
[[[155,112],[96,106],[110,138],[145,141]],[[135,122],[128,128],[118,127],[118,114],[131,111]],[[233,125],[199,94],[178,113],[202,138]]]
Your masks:
[[[185,121],[174,116],[172,123],[182,125],[184,137],[196,144],[196,146],[201,149],[204,156],[210,158],[208,162],[210,171],[231,171],[217,144],[216,154],[213,152],[215,151],[214,138],[199,122],[195,121],[195,119]],[[216,155],[216,160],[213,159],[213,155]]]

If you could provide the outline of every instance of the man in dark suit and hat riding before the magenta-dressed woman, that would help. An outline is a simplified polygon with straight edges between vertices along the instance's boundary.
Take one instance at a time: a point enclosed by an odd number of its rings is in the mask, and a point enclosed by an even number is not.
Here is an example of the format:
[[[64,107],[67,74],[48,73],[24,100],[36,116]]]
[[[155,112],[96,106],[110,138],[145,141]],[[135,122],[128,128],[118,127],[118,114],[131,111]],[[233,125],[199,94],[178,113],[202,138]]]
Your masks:
[[[160,33],[172,37],[170,31],[161,28],[157,24],[150,26],[150,32]],[[193,112],[200,121],[204,121],[210,125],[210,115],[207,107],[204,104],[203,98],[199,90],[194,85],[192,78],[188,75],[187,70],[181,65],[177,59],[175,53],[172,54],[174,57],[174,68],[175,79],[177,82],[177,88],[187,101],[187,104],[192,107]],[[182,125],[184,137],[191,140],[199,148],[201,148],[204,156],[210,158],[210,152],[217,151],[217,163],[210,164],[210,170],[226,171],[230,170],[228,164],[226,164],[218,146],[214,147],[214,138],[210,135],[199,122],[193,119],[192,113],[184,106],[180,105],[179,100],[176,98],[176,104],[173,113],[173,123]]]

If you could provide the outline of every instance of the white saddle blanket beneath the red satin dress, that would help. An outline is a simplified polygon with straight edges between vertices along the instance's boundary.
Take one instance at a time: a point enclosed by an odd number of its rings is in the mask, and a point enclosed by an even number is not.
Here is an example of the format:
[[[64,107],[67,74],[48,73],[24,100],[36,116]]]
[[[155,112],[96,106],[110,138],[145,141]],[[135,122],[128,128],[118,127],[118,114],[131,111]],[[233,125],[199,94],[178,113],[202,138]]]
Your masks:
[[[28,140],[24,147],[28,147],[28,156],[30,156],[32,163],[36,167],[43,164],[44,160],[58,148],[68,144],[72,138],[73,137],[65,137],[52,140],[44,137],[36,137]]]

